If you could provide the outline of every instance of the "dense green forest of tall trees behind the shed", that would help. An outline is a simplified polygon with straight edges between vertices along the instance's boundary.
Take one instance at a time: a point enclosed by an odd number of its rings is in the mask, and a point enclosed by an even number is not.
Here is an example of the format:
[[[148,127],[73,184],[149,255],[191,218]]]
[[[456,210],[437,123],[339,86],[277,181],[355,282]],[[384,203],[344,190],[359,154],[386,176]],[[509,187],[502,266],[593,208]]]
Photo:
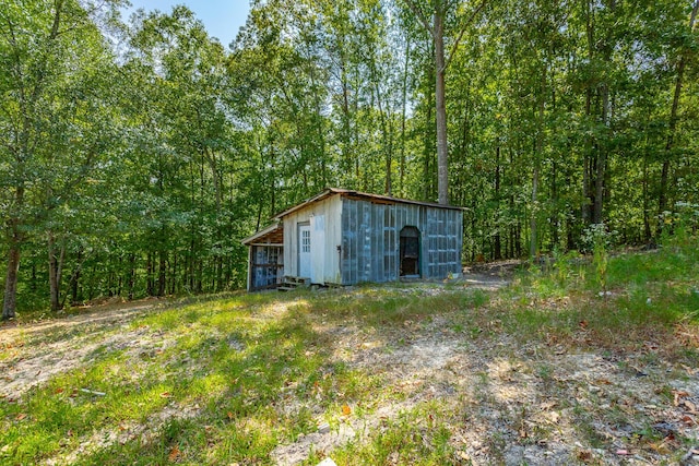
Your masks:
[[[464,207],[464,261],[699,217],[697,0],[252,0],[229,45],[121,4],[0,10],[5,319],[240,288],[327,187]]]

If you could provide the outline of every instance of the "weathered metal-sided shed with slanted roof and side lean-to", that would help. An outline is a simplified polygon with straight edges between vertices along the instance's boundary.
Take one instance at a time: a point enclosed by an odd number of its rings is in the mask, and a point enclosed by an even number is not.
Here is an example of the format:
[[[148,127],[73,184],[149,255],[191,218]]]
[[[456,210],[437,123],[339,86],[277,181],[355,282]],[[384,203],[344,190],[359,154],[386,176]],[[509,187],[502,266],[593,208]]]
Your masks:
[[[245,239],[248,290],[461,274],[461,207],[330,188]]]

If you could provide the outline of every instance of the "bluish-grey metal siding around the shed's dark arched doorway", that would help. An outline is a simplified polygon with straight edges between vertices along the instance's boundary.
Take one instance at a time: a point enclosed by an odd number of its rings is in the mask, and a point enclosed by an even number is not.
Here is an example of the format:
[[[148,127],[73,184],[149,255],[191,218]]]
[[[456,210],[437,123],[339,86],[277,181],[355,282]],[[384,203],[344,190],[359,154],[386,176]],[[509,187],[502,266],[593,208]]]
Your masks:
[[[399,278],[400,232],[420,232],[420,275],[445,278],[461,273],[463,213],[414,204],[342,201],[342,283]]]

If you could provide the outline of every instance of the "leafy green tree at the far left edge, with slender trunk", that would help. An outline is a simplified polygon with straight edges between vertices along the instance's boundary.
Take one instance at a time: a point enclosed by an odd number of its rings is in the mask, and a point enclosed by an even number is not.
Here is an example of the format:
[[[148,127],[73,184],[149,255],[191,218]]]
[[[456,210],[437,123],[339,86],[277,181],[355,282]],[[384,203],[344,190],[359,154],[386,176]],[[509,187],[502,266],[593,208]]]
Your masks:
[[[36,220],[67,202],[97,160],[93,115],[83,111],[94,97],[84,84],[109,60],[91,20],[96,11],[75,0],[34,0],[11,1],[0,12],[0,154],[8,160],[0,166],[8,243],[3,319],[14,316],[22,248]]]

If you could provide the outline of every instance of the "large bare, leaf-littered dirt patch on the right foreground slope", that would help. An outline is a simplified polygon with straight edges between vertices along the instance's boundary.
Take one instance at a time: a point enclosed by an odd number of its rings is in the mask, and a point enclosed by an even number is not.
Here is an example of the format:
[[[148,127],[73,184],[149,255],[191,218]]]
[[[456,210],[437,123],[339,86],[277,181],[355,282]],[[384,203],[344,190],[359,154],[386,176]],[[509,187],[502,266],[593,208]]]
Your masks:
[[[333,337],[336,359],[381,374],[405,401],[377,401],[365,406],[375,409],[370,415],[280,445],[272,454],[280,465],[298,464],[311,451],[332,455],[333,449],[363,441],[387,420],[430,399],[446,403],[461,420],[451,427],[457,464],[663,464],[683,447],[680,437],[699,443],[692,411],[699,378],[691,368],[677,377],[668,363],[644,363],[643,355],[615,359],[517,348],[507,337],[466,343],[437,319],[400,337],[366,335],[358,327],[337,328]],[[581,423],[590,431],[581,431]],[[654,439],[644,441],[648,437]],[[691,447],[685,449],[686,464],[695,464]]]

